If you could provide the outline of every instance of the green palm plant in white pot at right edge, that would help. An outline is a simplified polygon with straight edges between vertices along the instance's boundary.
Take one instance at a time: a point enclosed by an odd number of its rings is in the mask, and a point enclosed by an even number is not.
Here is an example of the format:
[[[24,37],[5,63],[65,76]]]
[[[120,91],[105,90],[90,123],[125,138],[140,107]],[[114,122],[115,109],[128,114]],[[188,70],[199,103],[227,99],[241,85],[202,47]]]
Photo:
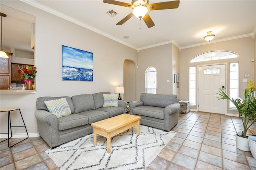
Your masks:
[[[243,131],[236,134],[236,147],[240,150],[250,151],[246,133],[249,127],[256,122],[256,98],[252,96],[252,93],[247,88],[244,89],[244,99],[230,98],[221,89],[218,92],[218,100],[230,100],[236,106],[239,118],[241,118],[243,123]],[[245,144],[241,144],[240,141],[244,141]]]

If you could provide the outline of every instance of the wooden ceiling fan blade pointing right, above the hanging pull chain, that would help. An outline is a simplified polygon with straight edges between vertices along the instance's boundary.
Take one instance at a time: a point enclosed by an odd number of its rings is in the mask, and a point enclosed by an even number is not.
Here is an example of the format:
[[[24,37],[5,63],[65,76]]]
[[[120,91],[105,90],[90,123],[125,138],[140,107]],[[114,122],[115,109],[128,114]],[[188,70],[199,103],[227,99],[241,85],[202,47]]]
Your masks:
[[[167,9],[174,9],[178,8],[180,5],[180,1],[168,1],[168,2],[159,2],[148,4],[148,10],[167,10]]]

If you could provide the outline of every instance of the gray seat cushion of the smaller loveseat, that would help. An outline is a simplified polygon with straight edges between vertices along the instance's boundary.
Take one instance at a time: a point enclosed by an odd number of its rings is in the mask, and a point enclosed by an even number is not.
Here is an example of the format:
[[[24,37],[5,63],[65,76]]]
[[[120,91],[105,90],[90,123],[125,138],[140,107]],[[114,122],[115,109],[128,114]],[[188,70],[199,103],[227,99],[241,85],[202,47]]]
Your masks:
[[[164,108],[153,106],[134,107],[132,114],[164,119]]]

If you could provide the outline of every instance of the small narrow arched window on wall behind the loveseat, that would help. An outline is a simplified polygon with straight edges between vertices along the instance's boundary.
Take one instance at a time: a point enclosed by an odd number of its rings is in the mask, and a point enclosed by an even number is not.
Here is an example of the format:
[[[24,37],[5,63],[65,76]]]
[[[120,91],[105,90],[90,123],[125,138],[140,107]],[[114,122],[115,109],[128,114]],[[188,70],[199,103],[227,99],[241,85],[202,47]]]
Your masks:
[[[156,68],[148,67],[145,72],[145,92],[156,94]]]

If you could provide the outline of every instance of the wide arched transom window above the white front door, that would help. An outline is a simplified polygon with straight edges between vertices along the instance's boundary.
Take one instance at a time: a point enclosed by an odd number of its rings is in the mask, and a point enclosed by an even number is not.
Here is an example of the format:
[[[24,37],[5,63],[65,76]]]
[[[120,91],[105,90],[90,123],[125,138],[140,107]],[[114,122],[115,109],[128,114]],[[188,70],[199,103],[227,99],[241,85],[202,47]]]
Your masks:
[[[211,60],[222,60],[222,59],[232,59],[237,58],[238,54],[230,51],[208,51],[202,53],[190,60],[190,63],[196,63],[201,61],[211,61]]]

